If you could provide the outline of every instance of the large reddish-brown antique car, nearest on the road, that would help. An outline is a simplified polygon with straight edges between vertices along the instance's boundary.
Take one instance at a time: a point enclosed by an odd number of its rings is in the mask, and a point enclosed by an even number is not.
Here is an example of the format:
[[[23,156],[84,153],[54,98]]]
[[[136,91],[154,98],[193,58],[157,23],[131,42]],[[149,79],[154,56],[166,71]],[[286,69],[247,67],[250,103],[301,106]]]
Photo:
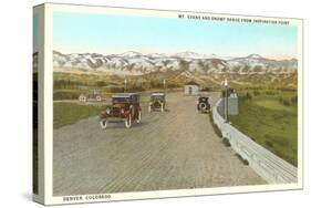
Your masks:
[[[131,128],[134,122],[142,119],[139,95],[137,93],[120,93],[112,96],[112,105],[100,115],[100,124],[104,129],[108,122],[124,122],[126,128]]]

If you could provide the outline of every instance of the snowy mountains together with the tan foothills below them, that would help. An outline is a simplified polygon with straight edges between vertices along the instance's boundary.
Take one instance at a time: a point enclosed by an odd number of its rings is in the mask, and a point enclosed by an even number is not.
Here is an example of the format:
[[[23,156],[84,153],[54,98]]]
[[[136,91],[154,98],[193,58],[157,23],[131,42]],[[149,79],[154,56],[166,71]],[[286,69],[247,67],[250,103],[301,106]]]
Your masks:
[[[96,81],[123,85],[125,76],[132,84],[139,81],[145,85],[156,86],[162,86],[160,83],[166,80],[170,87],[182,86],[190,81],[206,87],[219,86],[225,77],[235,87],[297,89],[298,83],[296,59],[271,60],[259,54],[221,58],[189,51],[173,55],[142,54],[135,51],[111,55],[63,54],[54,51],[53,65],[54,72],[59,74],[56,80],[86,84]]]

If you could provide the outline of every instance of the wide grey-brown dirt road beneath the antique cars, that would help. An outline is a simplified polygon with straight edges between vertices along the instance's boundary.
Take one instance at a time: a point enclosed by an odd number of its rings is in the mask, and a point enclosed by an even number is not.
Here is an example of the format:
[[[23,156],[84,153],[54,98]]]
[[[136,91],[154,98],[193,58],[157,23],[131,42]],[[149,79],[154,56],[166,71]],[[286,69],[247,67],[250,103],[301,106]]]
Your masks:
[[[212,103],[217,100],[211,96]],[[258,185],[265,181],[215,134],[196,97],[167,95],[168,111],[132,128],[97,117],[54,131],[54,195]]]

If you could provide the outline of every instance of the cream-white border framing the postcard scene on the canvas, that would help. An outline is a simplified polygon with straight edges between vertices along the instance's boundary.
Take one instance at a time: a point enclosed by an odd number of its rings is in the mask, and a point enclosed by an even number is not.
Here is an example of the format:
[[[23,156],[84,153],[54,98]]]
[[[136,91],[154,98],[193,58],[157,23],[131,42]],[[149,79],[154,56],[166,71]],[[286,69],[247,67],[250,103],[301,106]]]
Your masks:
[[[270,190],[289,190],[303,188],[302,181],[302,19],[289,18],[267,18],[252,15],[234,15],[234,14],[216,14],[187,11],[159,11],[146,9],[125,9],[125,8],[108,8],[108,7],[93,7],[93,6],[77,6],[77,4],[54,4],[45,3],[45,27],[44,27],[44,194],[45,205],[60,204],[76,204],[76,202],[99,202],[99,201],[114,201],[114,200],[132,200],[146,198],[167,198],[182,196],[201,196],[201,195],[218,195],[218,194],[234,194],[234,193],[255,193],[255,191],[270,191]],[[177,18],[177,14],[200,14],[209,17],[247,17],[258,18],[260,20],[282,20],[289,21],[290,25],[298,27],[298,72],[299,72],[299,114],[298,114],[298,183],[286,185],[255,185],[255,186],[236,186],[236,187],[220,187],[220,188],[196,188],[196,189],[177,189],[177,190],[160,190],[160,191],[142,191],[142,193],[123,193],[123,194],[103,194],[111,195],[108,199],[97,200],[79,200],[79,201],[63,201],[63,197],[53,196],[53,12],[80,12],[80,13],[101,13],[101,14],[126,14],[139,17],[162,17],[162,18]],[[49,124],[49,125],[48,125]],[[79,195],[82,197],[96,195]]]

